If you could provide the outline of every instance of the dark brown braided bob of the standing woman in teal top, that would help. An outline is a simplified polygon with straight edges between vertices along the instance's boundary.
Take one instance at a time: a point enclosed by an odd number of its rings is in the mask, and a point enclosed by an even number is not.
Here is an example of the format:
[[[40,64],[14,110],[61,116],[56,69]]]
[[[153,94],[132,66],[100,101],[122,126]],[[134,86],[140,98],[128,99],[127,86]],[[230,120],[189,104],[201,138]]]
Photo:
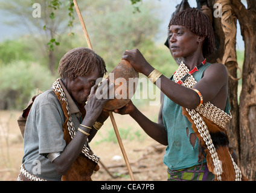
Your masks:
[[[202,11],[195,8],[183,10],[171,18],[168,29],[170,29],[171,25],[184,26],[192,33],[197,34],[197,36],[205,37],[203,43],[204,57],[208,57],[214,53],[215,39],[213,27],[208,16],[202,13]]]

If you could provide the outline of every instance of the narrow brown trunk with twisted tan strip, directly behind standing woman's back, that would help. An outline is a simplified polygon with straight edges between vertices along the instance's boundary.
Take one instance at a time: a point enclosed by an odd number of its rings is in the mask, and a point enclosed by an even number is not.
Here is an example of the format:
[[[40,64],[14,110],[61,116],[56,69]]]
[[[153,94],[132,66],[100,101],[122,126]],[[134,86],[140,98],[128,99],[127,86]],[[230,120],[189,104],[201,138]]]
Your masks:
[[[233,148],[233,150],[239,154],[239,108],[238,108],[238,98],[237,98],[237,54],[236,54],[236,24],[237,18],[234,16],[234,11],[230,5],[230,1],[227,0],[215,0],[215,3],[219,3],[222,5],[222,17],[221,17],[221,26],[222,29],[219,31],[223,31],[225,36],[225,43],[222,43],[225,51],[220,56],[223,65],[228,69],[228,93],[229,93],[229,102],[231,106],[231,114],[232,119],[226,125],[226,129],[228,131],[229,136],[229,145]],[[239,157],[238,157],[239,158]],[[238,159],[239,162],[239,159]]]

